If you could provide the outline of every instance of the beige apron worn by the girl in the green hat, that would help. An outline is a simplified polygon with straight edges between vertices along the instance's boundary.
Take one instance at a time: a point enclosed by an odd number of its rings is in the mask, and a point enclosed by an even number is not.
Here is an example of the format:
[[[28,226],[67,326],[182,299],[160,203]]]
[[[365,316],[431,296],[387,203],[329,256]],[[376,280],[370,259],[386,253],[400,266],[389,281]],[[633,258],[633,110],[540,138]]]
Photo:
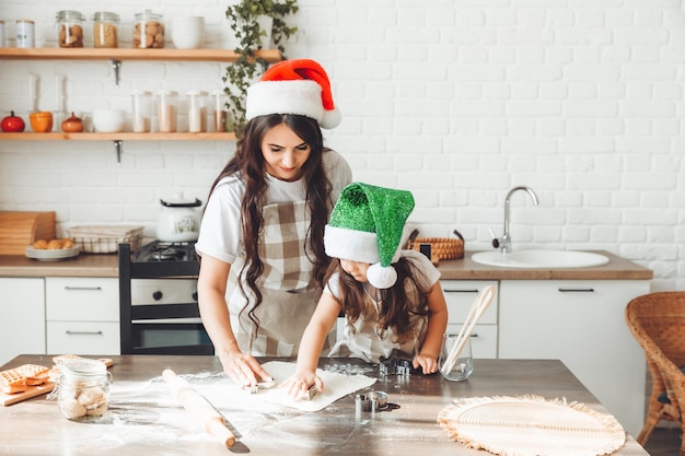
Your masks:
[[[407,282],[407,296],[409,296],[409,305],[416,307],[415,288],[409,282]],[[382,301],[378,302],[367,294],[367,313],[357,318],[353,325],[345,326],[342,339],[330,350],[329,356],[361,358],[370,363],[380,363],[392,358],[413,360],[423,344],[428,317],[413,314],[410,316],[413,334],[405,340],[398,341],[392,328],[384,332],[378,328],[379,308],[382,305]]]

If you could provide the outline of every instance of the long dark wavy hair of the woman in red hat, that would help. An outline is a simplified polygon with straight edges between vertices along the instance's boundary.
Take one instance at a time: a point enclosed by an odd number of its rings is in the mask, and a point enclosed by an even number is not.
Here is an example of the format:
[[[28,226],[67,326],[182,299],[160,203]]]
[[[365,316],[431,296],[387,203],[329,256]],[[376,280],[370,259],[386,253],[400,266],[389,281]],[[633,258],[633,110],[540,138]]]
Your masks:
[[[323,287],[324,274],[330,259],[324,252],[324,227],[334,201],[330,199],[332,185],[323,163],[324,139],[318,122],[314,119],[298,115],[272,114],[251,119],[245,126],[242,138],[237,141],[235,155],[221,171],[212,184],[209,196],[214,191],[217,184],[224,177],[237,175],[245,183],[245,196],[241,202],[243,242],[245,244],[245,264],[239,274],[239,287],[243,295],[247,296],[240,280],[245,272],[247,287],[255,295],[255,302],[243,307],[248,309],[249,319],[259,327],[259,319],[255,309],[263,301],[259,291],[259,278],[264,273],[264,264],[259,257],[259,233],[264,219],[264,208],[267,182],[262,141],[264,136],[274,127],[286,124],[295,135],[309,144],[311,153],[303,166],[304,187],[306,189],[306,206],[311,214],[311,223],[305,239],[305,254],[314,265],[314,279]]]

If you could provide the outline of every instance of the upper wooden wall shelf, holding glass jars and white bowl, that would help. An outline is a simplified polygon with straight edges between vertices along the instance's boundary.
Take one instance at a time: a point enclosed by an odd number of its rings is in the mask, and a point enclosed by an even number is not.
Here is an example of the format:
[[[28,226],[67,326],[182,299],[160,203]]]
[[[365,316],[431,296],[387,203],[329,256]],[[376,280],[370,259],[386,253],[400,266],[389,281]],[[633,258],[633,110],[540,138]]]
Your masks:
[[[258,50],[267,62],[280,61],[278,49]],[[125,49],[125,48],[12,48],[1,47],[4,60],[140,60],[140,61],[220,61],[233,62],[237,55],[232,49]]]

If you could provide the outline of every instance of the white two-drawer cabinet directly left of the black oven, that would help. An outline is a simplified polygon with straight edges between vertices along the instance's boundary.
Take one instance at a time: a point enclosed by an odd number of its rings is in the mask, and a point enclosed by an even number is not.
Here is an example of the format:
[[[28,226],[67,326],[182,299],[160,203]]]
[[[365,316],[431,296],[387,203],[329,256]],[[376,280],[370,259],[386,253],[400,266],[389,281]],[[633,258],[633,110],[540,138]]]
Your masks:
[[[47,352],[119,354],[119,282],[57,278],[46,282]]]

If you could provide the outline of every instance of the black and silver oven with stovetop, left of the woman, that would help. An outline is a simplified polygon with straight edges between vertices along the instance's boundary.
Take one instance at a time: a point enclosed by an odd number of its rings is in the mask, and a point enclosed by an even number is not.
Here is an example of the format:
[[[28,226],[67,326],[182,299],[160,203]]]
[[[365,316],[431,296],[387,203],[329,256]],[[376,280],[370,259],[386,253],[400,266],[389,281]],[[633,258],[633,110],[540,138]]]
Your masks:
[[[197,305],[195,243],[120,244],[121,354],[213,354]]]

